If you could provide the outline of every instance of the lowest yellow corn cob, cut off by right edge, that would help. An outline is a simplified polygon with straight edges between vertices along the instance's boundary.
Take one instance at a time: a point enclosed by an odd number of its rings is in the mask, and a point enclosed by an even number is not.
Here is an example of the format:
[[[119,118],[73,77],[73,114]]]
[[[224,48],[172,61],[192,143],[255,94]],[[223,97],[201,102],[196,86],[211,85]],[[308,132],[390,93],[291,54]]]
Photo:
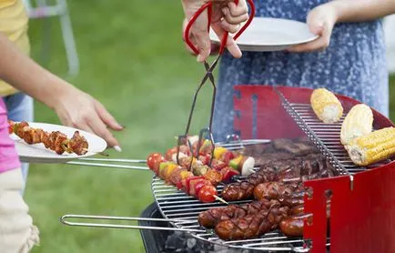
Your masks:
[[[346,146],[351,160],[359,166],[368,166],[395,155],[395,128],[386,127],[362,137]]]

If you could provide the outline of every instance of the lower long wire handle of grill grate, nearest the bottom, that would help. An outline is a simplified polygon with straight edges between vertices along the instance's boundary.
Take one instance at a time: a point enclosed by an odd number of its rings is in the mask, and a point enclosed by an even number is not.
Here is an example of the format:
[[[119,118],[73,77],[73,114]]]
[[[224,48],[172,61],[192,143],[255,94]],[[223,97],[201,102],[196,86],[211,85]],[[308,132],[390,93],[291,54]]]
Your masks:
[[[169,227],[154,227],[154,226],[133,226],[133,225],[119,225],[110,223],[89,223],[89,222],[73,222],[67,219],[96,219],[96,220],[118,220],[118,221],[157,221],[157,222],[177,222],[178,224],[183,223],[195,223],[196,220],[187,219],[169,219],[169,218],[135,218],[135,217],[111,217],[111,216],[89,216],[89,215],[64,215],[60,218],[60,222],[63,225],[72,227],[87,227],[87,228],[127,228],[127,229],[154,229],[154,230],[169,230],[169,231],[184,231],[184,232],[195,232],[195,233],[206,233],[204,229],[193,229],[193,228],[169,228]]]

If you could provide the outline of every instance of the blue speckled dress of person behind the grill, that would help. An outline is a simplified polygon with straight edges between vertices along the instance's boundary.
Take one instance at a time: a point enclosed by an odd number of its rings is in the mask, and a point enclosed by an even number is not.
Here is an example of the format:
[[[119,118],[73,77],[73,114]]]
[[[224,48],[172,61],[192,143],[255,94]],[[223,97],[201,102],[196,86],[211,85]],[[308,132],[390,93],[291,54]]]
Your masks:
[[[309,10],[326,0],[258,0],[257,16],[306,22]],[[327,87],[389,114],[385,44],[380,20],[335,26],[329,47],[319,53],[243,52],[240,59],[226,53],[219,67],[214,117],[216,141],[233,133],[234,85]]]

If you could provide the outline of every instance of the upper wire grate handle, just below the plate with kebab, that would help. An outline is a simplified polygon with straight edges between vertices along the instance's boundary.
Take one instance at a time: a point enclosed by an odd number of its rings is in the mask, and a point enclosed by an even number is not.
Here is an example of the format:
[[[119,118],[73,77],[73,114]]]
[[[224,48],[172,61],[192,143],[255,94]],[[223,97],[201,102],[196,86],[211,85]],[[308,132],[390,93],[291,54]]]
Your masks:
[[[125,169],[149,170],[147,166],[132,166],[125,164],[146,165],[146,160],[137,159],[108,159],[108,158],[79,158],[76,161],[66,162],[68,165],[91,166],[91,167],[116,167]],[[124,164],[114,164],[124,163]]]

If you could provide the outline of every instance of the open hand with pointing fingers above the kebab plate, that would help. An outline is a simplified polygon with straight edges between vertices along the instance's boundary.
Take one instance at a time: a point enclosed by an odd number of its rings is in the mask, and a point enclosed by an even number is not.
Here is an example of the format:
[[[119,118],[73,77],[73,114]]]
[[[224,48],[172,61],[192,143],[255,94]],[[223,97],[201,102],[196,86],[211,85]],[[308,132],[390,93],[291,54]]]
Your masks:
[[[59,96],[57,101],[54,109],[63,125],[94,133],[104,138],[109,147],[114,147],[118,152],[121,151],[116,137],[107,127],[116,131],[124,127],[119,125],[114,116],[111,116],[105,106],[95,98],[72,87]]]

